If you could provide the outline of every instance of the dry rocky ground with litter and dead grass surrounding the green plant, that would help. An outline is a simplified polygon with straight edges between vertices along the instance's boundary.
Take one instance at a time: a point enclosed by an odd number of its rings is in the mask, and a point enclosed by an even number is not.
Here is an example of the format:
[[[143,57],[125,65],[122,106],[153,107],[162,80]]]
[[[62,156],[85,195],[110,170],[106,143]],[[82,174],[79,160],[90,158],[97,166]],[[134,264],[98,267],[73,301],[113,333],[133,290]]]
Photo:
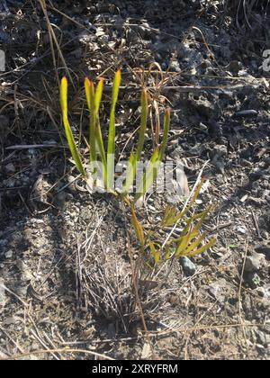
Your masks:
[[[0,73],[0,357],[268,359],[267,2],[238,10],[230,1],[47,1],[43,10],[36,3],[0,4],[6,54]],[[55,47],[55,60],[46,12],[62,52]],[[160,112],[169,104],[166,156],[184,163],[190,189],[200,173],[207,177],[199,207],[217,205],[205,224],[217,238],[210,251],[188,266],[175,261],[166,282],[166,266],[148,282],[140,279],[148,332],[132,285],[137,247],[121,204],[86,192],[63,148],[57,77],[65,67],[74,81],[73,125],[84,132],[84,76],[102,75],[109,85],[121,67],[119,153],[125,145],[130,150],[138,127],[142,82]],[[141,209],[146,227],[160,202],[166,198],[152,195]]]

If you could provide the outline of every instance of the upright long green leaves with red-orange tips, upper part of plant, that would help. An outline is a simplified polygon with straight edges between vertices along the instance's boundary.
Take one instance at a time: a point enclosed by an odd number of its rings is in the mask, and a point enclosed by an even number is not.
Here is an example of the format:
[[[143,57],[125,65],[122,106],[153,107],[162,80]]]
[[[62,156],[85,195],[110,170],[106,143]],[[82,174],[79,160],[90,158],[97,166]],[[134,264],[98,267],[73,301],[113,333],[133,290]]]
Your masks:
[[[90,122],[89,122],[89,142],[88,148],[90,152],[90,166],[92,168],[91,173],[95,173],[97,167],[94,164],[97,162],[97,158],[100,157],[103,166],[103,184],[104,188],[110,192],[112,191],[112,180],[111,175],[114,165],[114,152],[115,152],[115,107],[119,94],[119,87],[121,84],[121,72],[117,71],[114,75],[113,85],[112,85],[112,100],[111,100],[111,112],[108,130],[108,143],[107,148],[104,148],[103,134],[100,124],[100,104],[103,95],[103,78],[101,78],[94,88],[94,82],[85,78],[85,96],[87,106],[90,112]],[[60,102],[62,109],[63,123],[65,127],[65,132],[67,136],[68,146],[71,155],[76,163],[76,167],[81,175],[86,177],[85,167],[82,164],[82,157],[80,156],[79,150],[76,147],[76,142],[69,125],[68,115],[67,115],[67,77],[63,77],[60,86]],[[129,193],[130,186],[133,184],[134,179],[137,174],[137,166],[140,161],[141,153],[144,146],[145,134],[147,130],[148,123],[148,94],[146,90],[141,92],[141,116],[139,125],[139,139],[137,150],[130,153],[129,164],[127,167],[126,178],[123,183],[123,188],[121,194],[126,196]],[[148,188],[153,184],[157,177],[158,167],[164,157],[166,150],[166,142],[168,137],[168,131],[170,126],[170,112],[166,109],[164,116],[164,130],[163,130],[163,140],[160,146],[154,148],[152,157],[149,160],[148,167],[143,174],[141,183],[139,184],[139,189],[135,194],[134,201],[138,201],[140,196],[148,191]]]

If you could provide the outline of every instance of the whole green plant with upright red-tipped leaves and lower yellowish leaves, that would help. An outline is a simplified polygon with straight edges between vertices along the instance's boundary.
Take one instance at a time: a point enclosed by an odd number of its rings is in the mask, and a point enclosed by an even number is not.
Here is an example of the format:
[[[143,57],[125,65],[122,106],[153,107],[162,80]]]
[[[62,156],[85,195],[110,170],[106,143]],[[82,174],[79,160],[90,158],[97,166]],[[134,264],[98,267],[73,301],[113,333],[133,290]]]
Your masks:
[[[90,112],[89,120],[89,140],[87,147],[89,148],[91,174],[96,172],[97,167],[94,166],[97,158],[100,158],[103,166],[103,184],[104,188],[115,195],[118,193],[111,190],[113,177],[111,172],[114,172],[114,153],[115,153],[115,107],[118,100],[119,88],[121,84],[121,72],[117,71],[114,75],[112,85],[112,99],[111,99],[111,112],[108,130],[108,142],[105,149],[103,142],[103,133],[100,124],[100,105],[103,95],[103,78],[98,81],[96,87],[94,82],[85,78],[85,96],[87,107]],[[67,136],[68,146],[71,155],[76,163],[79,173],[87,178],[85,167],[82,163],[83,158],[80,155],[79,149],[76,147],[73,132],[70,128],[68,121],[68,107],[67,107],[67,77],[63,77],[60,85],[60,103],[62,110],[62,118],[64,128]],[[193,257],[202,254],[205,250],[212,247],[215,239],[211,238],[210,241],[204,242],[206,235],[201,233],[202,223],[212,210],[212,206],[208,206],[204,211],[193,213],[193,205],[201,191],[203,180],[196,187],[192,198],[184,206],[184,209],[178,212],[175,206],[167,206],[163,220],[159,225],[159,229],[174,227],[178,225],[181,227],[181,235],[178,238],[168,238],[164,243],[160,242],[158,238],[158,231],[146,232],[138,220],[134,203],[139,200],[141,195],[148,191],[148,188],[154,184],[157,178],[158,167],[164,157],[166,150],[166,143],[168,131],[170,126],[170,112],[166,109],[163,123],[163,139],[160,146],[156,146],[149,160],[148,167],[143,174],[139,190],[135,193],[134,202],[128,200],[127,194],[129,193],[130,186],[133,184],[137,173],[137,164],[140,160],[145,134],[148,122],[148,94],[146,90],[141,92],[141,116],[139,125],[139,139],[136,151],[134,149],[130,152],[129,164],[126,171],[125,181],[121,197],[128,203],[130,207],[130,220],[135,230],[136,236],[139,240],[141,251],[143,254],[150,253],[153,257],[155,265],[158,265],[166,260],[175,257]],[[95,183],[94,183],[95,184]],[[193,213],[193,215],[191,215]]]

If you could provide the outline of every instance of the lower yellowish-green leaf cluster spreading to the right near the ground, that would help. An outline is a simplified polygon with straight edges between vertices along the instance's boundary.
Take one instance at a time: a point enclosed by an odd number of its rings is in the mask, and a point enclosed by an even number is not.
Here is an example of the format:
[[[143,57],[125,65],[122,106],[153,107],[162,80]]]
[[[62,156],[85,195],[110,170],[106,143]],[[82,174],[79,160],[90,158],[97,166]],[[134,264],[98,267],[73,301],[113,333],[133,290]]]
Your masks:
[[[181,235],[178,238],[168,238],[165,243],[160,242],[158,231],[150,230],[146,233],[137,218],[136,212],[131,209],[131,221],[139,239],[141,250],[144,254],[150,252],[156,265],[175,257],[200,255],[215,244],[215,238],[205,242],[206,233],[201,232],[202,223],[214,206],[210,205],[203,211],[189,215],[193,211],[194,203],[201,191],[203,182],[202,179],[182,211],[177,211],[175,206],[166,207],[158,230],[173,228],[177,224],[181,228]]]

